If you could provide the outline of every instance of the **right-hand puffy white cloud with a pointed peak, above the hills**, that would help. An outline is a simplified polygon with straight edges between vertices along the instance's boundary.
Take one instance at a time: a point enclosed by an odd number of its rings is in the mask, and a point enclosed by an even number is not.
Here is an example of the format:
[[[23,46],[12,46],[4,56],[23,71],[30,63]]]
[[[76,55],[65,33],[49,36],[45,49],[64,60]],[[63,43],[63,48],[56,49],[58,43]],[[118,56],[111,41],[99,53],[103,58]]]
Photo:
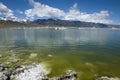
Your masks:
[[[100,11],[99,13],[94,12],[92,14],[80,12],[77,9],[77,3],[75,3],[70,8],[69,12],[66,13],[64,19],[109,24],[112,23],[112,21],[107,19],[108,16],[109,16],[108,11]]]

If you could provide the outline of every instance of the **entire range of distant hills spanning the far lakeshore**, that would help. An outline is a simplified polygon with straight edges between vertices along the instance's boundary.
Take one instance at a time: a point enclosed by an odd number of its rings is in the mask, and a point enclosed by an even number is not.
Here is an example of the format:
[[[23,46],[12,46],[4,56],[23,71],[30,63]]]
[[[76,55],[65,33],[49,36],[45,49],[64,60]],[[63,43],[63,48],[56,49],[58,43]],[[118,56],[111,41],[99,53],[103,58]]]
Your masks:
[[[40,26],[40,27],[96,27],[96,28],[120,28],[120,25],[108,25],[102,23],[92,23],[92,22],[81,22],[81,21],[71,21],[71,20],[61,20],[61,19],[37,19],[34,21],[14,22],[14,21],[4,21],[0,20],[0,27],[18,27],[18,26]]]

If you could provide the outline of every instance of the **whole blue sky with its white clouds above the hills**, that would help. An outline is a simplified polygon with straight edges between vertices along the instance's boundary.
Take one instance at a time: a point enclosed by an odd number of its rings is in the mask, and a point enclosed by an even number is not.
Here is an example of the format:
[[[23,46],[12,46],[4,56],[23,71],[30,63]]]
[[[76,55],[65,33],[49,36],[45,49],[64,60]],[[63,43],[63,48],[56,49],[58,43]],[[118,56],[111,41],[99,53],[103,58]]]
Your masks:
[[[120,24],[120,0],[0,0],[0,3],[1,17],[9,15],[31,19],[54,17]]]

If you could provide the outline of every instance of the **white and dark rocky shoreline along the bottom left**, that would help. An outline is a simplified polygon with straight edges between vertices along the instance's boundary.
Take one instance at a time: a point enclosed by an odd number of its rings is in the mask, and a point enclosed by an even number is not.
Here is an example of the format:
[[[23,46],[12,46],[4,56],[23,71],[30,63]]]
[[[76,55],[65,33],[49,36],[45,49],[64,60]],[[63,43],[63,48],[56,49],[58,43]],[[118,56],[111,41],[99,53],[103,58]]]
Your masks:
[[[27,66],[15,66],[13,69],[0,64],[0,80],[74,80],[77,73],[67,70],[66,74],[49,78],[46,76],[46,69],[38,63]]]

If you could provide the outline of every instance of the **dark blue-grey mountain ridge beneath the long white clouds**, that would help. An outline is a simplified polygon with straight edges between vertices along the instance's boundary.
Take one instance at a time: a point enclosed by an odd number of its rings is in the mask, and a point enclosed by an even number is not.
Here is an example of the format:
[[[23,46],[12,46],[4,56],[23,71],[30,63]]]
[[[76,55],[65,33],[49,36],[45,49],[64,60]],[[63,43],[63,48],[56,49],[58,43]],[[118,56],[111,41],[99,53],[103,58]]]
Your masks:
[[[99,27],[99,28],[109,27],[106,24],[100,24],[100,23],[70,21],[70,20],[60,20],[60,19],[38,19],[31,23],[34,25],[43,25],[43,26]]]

